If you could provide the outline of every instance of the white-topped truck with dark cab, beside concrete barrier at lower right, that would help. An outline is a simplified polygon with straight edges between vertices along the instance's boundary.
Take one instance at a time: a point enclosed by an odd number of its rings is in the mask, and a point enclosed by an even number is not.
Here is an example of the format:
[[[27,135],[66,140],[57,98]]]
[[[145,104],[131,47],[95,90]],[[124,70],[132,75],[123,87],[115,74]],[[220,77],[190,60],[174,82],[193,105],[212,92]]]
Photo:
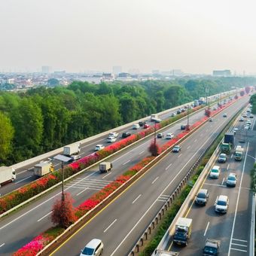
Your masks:
[[[192,231],[192,219],[191,218],[178,218],[175,225],[175,234],[173,236],[173,242],[178,245],[187,245]]]

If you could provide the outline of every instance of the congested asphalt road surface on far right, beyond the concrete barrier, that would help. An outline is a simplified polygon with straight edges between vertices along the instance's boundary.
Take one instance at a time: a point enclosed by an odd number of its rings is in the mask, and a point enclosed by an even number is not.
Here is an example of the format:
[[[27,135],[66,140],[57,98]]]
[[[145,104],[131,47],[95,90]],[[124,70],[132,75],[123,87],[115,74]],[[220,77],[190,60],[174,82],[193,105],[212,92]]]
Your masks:
[[[256,157],[255,118],[251,122],[254,130],[249,130],[247,136],[245,136],[245,130],[242,130],[244,123],[245,121],[238,122],[236,125],[239,130],[236,132],[235,142],[236,145],[242,145],[245,149],[242,161],[234,160],[234,152],[228,156],[226,163],[216,161],[215,165],[221,166],[220,177],[218,179],[206,178],[202,187],[209,190],[207,205],[200,207],[194,204],[187,215],[187,218],[193,219],[190,241],[184,248],[172,245],[172,251],[180,251],[181,255],[202,254],[206,239],[209,238],[221,241],[220,255],[249,255],[252,211],[250,171]],[[241,139],[245,139],[245,143],[241,143]],[[230,172],[235,172],[237,175],[236,187],[226,186]],[[219,195],[229,197],[227,214],[215,212],[215,200]]]

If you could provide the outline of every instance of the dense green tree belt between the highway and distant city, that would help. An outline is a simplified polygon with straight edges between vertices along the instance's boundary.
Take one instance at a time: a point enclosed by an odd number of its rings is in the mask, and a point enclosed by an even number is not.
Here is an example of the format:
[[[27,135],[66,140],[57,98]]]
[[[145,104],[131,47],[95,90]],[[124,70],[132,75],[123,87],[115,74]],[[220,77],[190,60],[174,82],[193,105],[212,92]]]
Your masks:
[[[10,165],[256,78],[135,81],[0,93],[0,164]]]

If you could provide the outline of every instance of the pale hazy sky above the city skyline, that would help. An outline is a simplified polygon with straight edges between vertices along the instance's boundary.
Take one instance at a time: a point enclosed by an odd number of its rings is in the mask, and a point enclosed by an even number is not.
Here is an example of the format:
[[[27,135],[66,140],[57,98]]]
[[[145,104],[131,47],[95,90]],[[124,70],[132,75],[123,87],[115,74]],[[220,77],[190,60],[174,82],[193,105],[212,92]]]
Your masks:
[[[256,73],[255,0],[1,0],[0,71]]]

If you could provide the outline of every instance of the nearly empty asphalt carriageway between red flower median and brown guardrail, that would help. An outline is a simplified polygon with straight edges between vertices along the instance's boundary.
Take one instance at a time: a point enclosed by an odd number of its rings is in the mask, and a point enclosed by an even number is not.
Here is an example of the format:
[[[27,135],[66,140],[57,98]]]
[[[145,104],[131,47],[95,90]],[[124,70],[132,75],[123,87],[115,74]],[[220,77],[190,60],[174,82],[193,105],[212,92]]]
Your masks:
[[[227,118],[218,114],[213,122],[207,122],[181,143],[180,153],[167,154],[130,189],[55,251],[54,255],[77,255],[93,238],[102,239],[105,255],[126,255],[203,149],[218,136],[221,127],[247,100],[248,98],[242,99],[227,108]]]

